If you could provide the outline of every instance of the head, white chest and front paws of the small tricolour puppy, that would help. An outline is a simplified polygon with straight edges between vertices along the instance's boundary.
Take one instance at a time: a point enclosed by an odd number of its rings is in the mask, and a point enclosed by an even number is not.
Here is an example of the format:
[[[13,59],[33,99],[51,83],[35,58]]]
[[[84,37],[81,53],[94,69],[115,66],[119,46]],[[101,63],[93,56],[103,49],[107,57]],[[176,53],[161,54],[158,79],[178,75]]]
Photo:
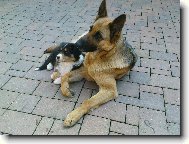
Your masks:
[[[84,61],[84,54],[75,47],[74,43],[68,43],[63,48],[59,47],[55,47],[55,49],[60,49],[60,53],[56,56],[54,72],[51,74],[54,84],[61,84],[61,76],[80,68]]]

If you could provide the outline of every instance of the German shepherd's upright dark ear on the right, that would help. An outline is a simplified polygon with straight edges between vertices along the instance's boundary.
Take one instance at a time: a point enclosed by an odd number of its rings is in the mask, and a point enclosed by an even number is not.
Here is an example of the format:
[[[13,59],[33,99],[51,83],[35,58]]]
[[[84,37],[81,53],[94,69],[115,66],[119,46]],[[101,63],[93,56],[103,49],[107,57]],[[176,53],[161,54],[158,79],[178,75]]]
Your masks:
[[[122,15],[118,16],[116,19],[114,19],[113,22],[111,22],[109,24],[111,43],[114,43],[119,39],[122,28],[125,24],[125,21],[126,21],[126,15],[122,14]]]

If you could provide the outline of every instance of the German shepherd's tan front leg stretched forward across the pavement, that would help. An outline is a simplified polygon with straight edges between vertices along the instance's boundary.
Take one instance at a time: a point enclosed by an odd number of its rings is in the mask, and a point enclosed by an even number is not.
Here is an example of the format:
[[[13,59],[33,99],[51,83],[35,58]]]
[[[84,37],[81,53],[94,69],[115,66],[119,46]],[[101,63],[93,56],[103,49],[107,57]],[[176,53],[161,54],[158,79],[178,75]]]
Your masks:
[[[100,91],[90,99],[85,100],[80,107],[69,113],[64,120],[64,126],[74,125],[90,109],[98,108],[100,105],[117,97],[116,80],[112,75],[98,75],[95,81],[99,85]]]

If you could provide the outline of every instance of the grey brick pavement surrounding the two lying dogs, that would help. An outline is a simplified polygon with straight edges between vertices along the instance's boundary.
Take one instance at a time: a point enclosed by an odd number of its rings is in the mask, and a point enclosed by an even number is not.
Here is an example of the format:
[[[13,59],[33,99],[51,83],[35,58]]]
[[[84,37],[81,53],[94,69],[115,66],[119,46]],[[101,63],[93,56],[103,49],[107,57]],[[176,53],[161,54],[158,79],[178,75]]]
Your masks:
[[[127,14],[124,37],[139,56],[117,82],[119,97],[64,128],[65,116],[98,90],[74,83],[61,96],[49,71],[36,72],[53,43],[88,30],[101,0],[0,1],[0,134],[179,135],[180,4],[177,0],[107,0],[108,15]]]

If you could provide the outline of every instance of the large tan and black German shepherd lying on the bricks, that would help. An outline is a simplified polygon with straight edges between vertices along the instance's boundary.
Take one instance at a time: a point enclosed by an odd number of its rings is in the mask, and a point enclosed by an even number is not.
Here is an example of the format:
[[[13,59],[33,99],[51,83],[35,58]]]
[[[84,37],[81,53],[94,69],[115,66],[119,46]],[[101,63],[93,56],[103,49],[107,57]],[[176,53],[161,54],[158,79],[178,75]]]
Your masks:
[[[71,96],[69,83],[82,78],[95,81],[99,92],[69,113],[64,120],[64,126],[74,125],[90,109],[98,108],[118,96],[116,79],[126,75],[137,61],[132,47],[122,36],[125,21],[125,14],[114,20],[108,18],[106,1],[103,0],[89,32],[76,42],[77,47],[87,53],[81,68],[61,78],[62,94]]]

